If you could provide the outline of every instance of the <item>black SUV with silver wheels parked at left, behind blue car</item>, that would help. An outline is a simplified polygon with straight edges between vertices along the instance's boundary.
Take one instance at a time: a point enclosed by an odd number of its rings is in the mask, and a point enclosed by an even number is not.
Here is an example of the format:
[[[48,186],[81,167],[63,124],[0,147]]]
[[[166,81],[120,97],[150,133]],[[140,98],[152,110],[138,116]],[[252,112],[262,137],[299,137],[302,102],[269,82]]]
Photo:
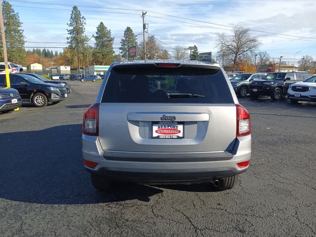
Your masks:
[[[45,107],[47,103],[58,103],[67,98],[64,86],[45,83],[25,74],[10,74],[11,87],[17,89],[22,102],[31,102],[36,107]],[[0,86],[5,86],[5,75],[0,74]]]

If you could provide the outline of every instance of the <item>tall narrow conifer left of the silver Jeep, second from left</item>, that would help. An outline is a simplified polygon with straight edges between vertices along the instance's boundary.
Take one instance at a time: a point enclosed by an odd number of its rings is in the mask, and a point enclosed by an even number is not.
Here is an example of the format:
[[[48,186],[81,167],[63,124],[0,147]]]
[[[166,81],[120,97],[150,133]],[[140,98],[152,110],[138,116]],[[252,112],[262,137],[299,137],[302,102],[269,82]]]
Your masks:
[[[80,70],[80,61],[86,58],[86,48],[89,38],[84,35],[85,18],[81,15],[77,6],[73,7],[70,22],[67,24],[69,37],[67,37],[68,47],[71,52],[72,63],[77,62],[77,68]],[[84,57],[85,56],[85,57]]]

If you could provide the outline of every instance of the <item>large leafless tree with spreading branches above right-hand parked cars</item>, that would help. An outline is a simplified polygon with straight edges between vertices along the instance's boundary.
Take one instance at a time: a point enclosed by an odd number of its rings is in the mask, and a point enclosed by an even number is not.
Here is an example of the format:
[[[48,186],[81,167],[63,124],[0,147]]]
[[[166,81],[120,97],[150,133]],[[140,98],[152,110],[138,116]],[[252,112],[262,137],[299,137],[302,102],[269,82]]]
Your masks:
[[[251,53],[256,50],[260,42],[256,37],[250,35],[248,28],[235,27],[233,36],[225,33],[217,34],[217,46],[220,51],[229,55],[233,61],[233,72],[237,66],[237,59],[240,55]]]

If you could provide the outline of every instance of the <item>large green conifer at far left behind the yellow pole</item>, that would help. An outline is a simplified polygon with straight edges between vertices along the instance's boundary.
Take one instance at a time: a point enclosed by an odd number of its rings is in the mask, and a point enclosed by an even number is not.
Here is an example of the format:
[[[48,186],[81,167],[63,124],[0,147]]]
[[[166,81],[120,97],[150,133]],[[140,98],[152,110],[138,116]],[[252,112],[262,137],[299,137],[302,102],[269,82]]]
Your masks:
[[[20,21],[19,14],[14,12],[12,5],[8,1],[3,1],[2,13],[8,61],[16,64],[24,64],[26,63],[26,51],[23,48],[25,37],[21,29],[22,22]],[[0,40],[0,45],[2,49],[2,40]]]

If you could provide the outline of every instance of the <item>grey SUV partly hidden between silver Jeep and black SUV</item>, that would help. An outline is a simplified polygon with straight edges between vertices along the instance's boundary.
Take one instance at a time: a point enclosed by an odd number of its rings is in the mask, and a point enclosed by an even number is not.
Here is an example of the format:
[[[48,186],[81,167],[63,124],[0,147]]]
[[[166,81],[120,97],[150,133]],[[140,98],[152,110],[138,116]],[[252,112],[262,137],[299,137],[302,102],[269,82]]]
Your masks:
[[[259,80],[266,76],[265,73],[242,73],[231,79],[236,94],[245,97],[249,92],[249,84],[252,80]]]

